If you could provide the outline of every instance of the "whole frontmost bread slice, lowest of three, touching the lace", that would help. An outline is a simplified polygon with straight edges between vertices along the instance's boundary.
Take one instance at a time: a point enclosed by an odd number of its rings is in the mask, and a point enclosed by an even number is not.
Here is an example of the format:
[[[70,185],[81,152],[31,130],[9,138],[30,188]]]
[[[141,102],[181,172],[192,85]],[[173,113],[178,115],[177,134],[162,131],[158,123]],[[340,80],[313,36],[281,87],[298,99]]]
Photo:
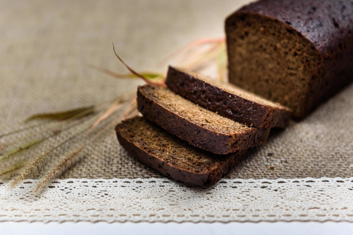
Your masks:
[[[246,154],[246,150],[227,155],[200,150],[138,116],[122,121],[115,130],[120,145],[138,160],[193,185],[216,183]]]

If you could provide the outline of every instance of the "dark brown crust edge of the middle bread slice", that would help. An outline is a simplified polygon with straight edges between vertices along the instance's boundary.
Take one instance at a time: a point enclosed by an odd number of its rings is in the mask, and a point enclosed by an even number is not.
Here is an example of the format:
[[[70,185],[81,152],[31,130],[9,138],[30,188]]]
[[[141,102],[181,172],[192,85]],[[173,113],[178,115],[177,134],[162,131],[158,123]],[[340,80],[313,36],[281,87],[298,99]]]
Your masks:
[[[228,154],[261,145],[270,133],[270,128],[249,128],[249,131],[238,135],[216,133],[157,104],[144,94],[143,87],[140,86],[137,89],[137,108],[145,118],[169,133],[193,146],[216,154]]]

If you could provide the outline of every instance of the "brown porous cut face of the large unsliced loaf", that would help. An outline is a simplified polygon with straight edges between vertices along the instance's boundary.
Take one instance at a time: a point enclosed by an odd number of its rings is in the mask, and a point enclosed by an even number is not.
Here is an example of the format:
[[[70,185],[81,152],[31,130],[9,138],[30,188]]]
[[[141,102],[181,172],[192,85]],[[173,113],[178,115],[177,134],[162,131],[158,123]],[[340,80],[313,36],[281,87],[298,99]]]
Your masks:
[[[229,81],[304,116],[321,63],[315,46],[289,23],[247,11],[227,18],[226,34]]]

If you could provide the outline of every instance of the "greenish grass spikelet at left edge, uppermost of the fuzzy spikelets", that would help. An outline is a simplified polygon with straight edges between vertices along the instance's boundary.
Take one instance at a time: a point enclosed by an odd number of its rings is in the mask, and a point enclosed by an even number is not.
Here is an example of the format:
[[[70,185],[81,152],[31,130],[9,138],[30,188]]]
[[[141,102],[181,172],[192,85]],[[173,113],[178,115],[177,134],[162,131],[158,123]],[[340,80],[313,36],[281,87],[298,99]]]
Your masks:
[[[43,140],[44,139],[42,138],[23,142],[19,146],[13,147],[5,151],[5,153],[0,156],[0,160],[3,162],[5,160],[23,158],[26,154],[28,154],[29,151],[33,150],[33,148],[38,147],[38,145],[43,142]]]

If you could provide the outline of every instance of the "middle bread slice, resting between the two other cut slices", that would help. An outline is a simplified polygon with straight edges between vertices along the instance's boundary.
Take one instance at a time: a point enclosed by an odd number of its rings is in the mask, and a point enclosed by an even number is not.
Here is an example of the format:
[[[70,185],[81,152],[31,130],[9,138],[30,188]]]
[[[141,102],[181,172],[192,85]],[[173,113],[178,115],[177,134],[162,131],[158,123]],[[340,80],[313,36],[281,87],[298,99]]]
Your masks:
[[[270,128],[253,128],[186,100],[168,88],[137,89],[138,110],[152,122],[204,150],[227,154],[267,140]]]

